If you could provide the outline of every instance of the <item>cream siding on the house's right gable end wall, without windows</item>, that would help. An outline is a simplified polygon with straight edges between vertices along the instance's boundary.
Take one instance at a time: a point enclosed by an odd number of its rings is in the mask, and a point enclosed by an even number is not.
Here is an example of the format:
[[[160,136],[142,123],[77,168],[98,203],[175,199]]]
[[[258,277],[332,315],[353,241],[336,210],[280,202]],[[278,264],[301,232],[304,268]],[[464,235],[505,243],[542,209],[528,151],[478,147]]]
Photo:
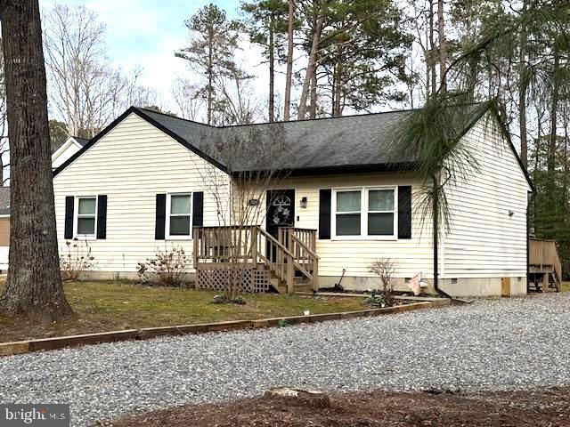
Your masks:
[[[448,193],[452,230],[442,239],[445,278],[526,276],[526,207],[530,187],[494,118],[464,137],[479,172]],[[509,215],[512,212],[512,215]]]

